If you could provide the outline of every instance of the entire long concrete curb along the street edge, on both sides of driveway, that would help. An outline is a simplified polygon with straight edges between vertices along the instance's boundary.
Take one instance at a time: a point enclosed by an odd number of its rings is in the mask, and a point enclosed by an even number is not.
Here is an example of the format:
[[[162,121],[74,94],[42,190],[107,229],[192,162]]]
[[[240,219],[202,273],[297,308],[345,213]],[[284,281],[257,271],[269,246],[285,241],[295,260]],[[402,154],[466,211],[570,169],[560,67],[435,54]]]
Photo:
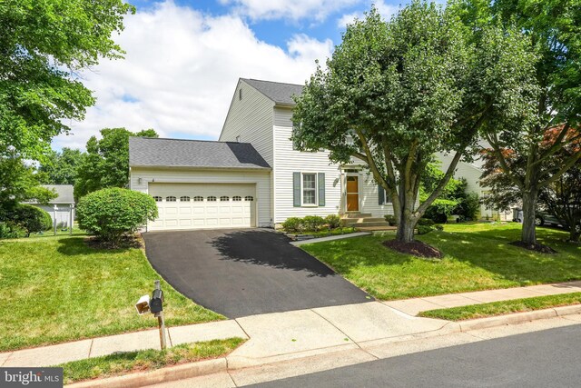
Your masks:
[[[240,356],[226,356],[197,363],[184,363],[182,365],[170,366],[152,372],[132,373],[120,377],[111,377],[101,380],[97,379],[83,383],[68,384],[66,386],[71,388],[137,388],[145,385],[172,382],[206,374],[284,363],[313,356],[322,356],[330,353],[352,353],[359,350],[359,348],[360,350],[367,352],[366,349],[371,349],[377,346],[417,341],[420,339],[443,336],[450,333],[463,333],[472,330],[503,326],[507,324],[527,323],[547,318],[557,318],[574,313],[581,313],[581,304],[555,307],[526,313],[511,313],[507,315],[499,315],[464,322],[448,322],[438,330],[433,330],[426,333],[389,337],[372,341],[364,341],[357,344],[350,343],[345,345],[337,345],[331,346],[329,348],[314,349],[299,353],[280,354],[262,359],[249,359]]]

